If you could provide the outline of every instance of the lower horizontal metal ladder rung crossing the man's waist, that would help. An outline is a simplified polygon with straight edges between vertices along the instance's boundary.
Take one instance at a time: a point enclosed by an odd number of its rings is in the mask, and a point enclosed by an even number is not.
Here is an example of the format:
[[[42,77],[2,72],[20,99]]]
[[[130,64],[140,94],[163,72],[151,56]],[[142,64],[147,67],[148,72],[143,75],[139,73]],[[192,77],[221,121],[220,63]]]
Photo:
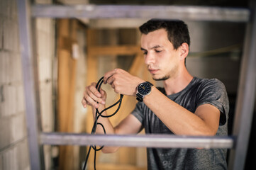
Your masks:
[[[229,148],[233,137],[196,137],[177,135],[91,135],[48,132],[41,133],[42,145],[104,145],[122,147]]]

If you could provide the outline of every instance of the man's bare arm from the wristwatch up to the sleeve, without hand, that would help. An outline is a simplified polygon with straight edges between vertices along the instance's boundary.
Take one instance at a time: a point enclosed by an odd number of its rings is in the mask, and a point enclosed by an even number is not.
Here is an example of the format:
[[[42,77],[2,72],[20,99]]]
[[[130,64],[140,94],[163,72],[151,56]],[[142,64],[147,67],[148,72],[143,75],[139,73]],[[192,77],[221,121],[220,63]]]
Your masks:
[[[221,113],[211,104],[201,105],[191,113],[155,87],[143,102],[176,135],[216,135]]]

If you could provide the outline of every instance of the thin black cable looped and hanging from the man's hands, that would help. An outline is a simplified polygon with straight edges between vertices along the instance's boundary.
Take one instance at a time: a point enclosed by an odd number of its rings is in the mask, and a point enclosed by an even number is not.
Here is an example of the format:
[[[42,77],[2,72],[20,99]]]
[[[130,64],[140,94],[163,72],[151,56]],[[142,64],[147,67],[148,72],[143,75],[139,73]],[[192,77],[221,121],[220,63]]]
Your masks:
[[[101,89],[101,84],[103,83],[103,79],[104,79],[104,77],[101,77],[101,79],[99,79],[99,81],[96,84],[96,89],[98,91],[100,91],[100,89]],[[108,108],[104,108],[104,110],[102,110],[101,112],[99,112],[98,108],[96,108],[95,120],[94,120],[94,125],[93,125],[93,127],[91,129],[91,134],[95,134],[97,125],[101,125],[101,128],[104,130],[104,134],[106,134],[106,130],[104,128],[104,125],[102,125],[101,123],[98,123],[98,118],[100,116],[102,118],[109,118],[109,117],[111,117],[113,115],[116,115],[116,113],[119,111],[119,109],[121,107],[122,99],[123,99],[123,94],[120,94],[120,98],[119,98],[118,101],[116,101],[116,103],[113,103],[113,105],[109,106]],[[111,115],[102,115],[102,113],[104,113],[104,111],[107,111],[109,108],[113,108],[113,106],[116,106],[118,103],[119,103],[118,108],[116,109],[116,111],[114,113],[112,113]],[[85,168],[87,166],[87,161],[88,161],[88,158],[89,158],[89,154],[91,152],[91,148],[94,149],[94,170],[96,170],[96,152],[101,150],[103,147],[104,146],[100,147],[99,149],[97,149],[95,145],[94,146],[91,145],[89,147],[89,150],[88,150],[88,153],[87,153],[87,157],[86,157],[85,162],[84,162],[83,170],[85,170]]]

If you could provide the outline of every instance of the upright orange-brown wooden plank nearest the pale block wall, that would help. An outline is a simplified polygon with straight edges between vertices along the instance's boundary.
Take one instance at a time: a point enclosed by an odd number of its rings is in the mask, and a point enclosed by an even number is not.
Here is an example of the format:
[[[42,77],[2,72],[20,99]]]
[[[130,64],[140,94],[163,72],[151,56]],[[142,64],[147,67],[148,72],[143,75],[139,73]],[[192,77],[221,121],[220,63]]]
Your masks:
[[[62,19],[58,23],[58,131],[73,132],[74,90],[77,61],[72,58],[72,43],[76,38],[76,21]],[[71,32],[71,33],[70,33]],[[74,169],[73,147],[60,147],[60,169]],[[70,157],[71,156],[71,157]]]

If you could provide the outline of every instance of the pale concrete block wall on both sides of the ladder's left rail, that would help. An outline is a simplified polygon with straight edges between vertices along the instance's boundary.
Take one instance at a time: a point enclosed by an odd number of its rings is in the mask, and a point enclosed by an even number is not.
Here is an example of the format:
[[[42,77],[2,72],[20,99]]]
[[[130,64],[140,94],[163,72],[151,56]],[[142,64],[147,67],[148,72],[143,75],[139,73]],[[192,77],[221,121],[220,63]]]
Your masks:
[[[43,131],[50,132],[54,22],[38,19],[36,27],[41,119]],[[0,0],[0,170],[30,169],[21,66],[16,0]],[[51,147],[44,151],[45,169],[51,169]]]

